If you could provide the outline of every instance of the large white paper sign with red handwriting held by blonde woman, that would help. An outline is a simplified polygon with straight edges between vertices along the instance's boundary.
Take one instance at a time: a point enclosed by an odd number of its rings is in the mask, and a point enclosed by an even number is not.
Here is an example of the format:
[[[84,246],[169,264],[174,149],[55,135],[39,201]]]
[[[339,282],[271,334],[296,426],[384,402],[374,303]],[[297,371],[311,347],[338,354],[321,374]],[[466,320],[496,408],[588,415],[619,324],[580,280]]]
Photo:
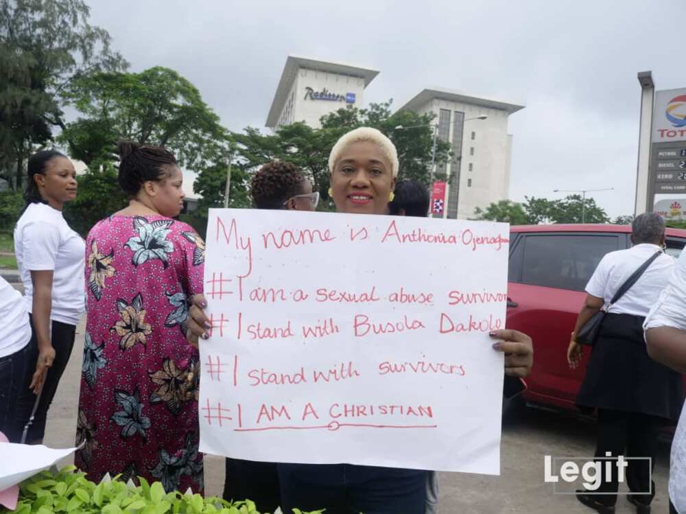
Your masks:
[[[499,474],[508,225],[211,209],[200,450]]]

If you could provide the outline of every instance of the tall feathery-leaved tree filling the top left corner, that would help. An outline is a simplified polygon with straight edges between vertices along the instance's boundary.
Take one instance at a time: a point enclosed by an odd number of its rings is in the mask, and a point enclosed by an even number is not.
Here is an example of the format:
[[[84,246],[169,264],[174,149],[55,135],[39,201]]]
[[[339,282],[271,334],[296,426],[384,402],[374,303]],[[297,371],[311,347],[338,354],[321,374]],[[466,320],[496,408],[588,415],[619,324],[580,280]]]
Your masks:
[[[0,176],[23,184],[34,145],[64,128],[62,93],[95,70],[124,69],[83,0],[0,0]]]

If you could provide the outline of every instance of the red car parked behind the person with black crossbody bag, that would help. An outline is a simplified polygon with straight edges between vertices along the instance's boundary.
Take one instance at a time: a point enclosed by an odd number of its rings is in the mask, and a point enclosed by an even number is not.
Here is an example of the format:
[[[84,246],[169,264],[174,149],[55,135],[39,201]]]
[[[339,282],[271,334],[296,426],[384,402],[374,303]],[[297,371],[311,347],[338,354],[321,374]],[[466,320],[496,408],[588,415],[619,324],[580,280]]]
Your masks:
[[[631,246],[628,225],[530,225],[510,228],[507,327],[531,336],[534,367],[523,398],[533,404],[573,409],[591,354],[576,370],[567,347],[600,259]],[[667,253],[678,257],[686,230],[667,229]],[[686,382],[686,379],[685,379]]]

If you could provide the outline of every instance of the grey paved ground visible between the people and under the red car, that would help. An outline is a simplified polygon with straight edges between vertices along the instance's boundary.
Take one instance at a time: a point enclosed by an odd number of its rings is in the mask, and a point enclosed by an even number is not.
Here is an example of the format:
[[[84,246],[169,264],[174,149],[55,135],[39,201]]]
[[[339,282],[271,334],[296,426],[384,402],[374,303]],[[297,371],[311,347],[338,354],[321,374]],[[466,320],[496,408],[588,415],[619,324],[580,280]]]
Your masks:
[[[45,443],[52,447],[73,445],[83,349],[83,326],[69,366],[57,391],[47,423]],[[563,414],[524,409],[503,427],[501,476],[440,474],[442,513],[588,513],[593,511],[571,495],[554,495],[543,482],[543,456],[591,456],[595,425]],[[653,512],[666,514],[669,446],[661,443],[654,480],[657,497]],[[219,494],[224,483],[222,458],[206,456],[206,493]],[[617,514],[632,513],[626,498],[619,498]]]

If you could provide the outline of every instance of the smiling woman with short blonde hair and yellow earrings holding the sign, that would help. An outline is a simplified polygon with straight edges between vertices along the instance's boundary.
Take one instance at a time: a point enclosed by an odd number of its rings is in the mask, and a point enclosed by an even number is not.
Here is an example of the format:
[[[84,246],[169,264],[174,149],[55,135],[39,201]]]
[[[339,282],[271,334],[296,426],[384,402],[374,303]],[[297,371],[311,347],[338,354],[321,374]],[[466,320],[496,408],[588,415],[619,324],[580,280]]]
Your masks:
[[[386,214],[398,174],[393,143],[378,130],[358,128],[344,135],[329,156],[331,189],[336,209],[349,214]],[[209,320],[196,297],[189,329],[207,338]],[[190,335],[190,334],[189,334]],[[496,331],[493,347],[506,353],[508,375],[524,376],[532,366],[531,340],[514,331]],[[279,464],[282,507],[327,509],[327,513],[424,514],[427,471],[362,465]]]

